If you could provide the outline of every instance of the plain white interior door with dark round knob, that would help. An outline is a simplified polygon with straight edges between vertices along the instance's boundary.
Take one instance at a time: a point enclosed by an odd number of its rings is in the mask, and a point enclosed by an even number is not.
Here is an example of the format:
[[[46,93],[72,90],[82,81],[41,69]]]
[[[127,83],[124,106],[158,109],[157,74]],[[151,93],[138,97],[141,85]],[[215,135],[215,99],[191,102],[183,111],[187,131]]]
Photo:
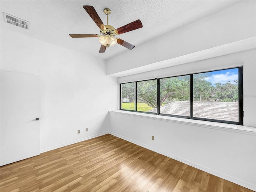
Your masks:
[[[41,76],[1,70],[0,166],[40,154],[40,86]]]

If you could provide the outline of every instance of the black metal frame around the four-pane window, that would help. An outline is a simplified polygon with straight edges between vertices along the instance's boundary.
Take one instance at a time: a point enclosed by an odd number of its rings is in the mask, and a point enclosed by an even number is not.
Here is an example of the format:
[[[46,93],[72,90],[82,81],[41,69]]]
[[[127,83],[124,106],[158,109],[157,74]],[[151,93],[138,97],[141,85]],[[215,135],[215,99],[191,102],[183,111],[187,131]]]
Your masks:
[[[200,73],[207,73],[207,72],[216,72],[220,70],[230,70],[230,69],[238,69],[238,122],[234,121],[226,121],[226,120],[216,120],[216,119],[208,119],[208,118],[198,118],[193,116],[193,75],[194,74],[200,74]],[[161,114],[160,113],[160,79],[164,78],[171,78],[171,77],[179,77],[179,76],[190,76],[190,116],[179,116],[179,115],[170,115],[170,114]],[[142,112],[142,111],[137,111],[137,82],[142,82],[142,81],[148,81],[148,80],[157,80],[157,112],[152,113],[152,112]],[[147,80],[140,80],[140,81],[132,81],[135,83],[135,89],[134,89],[134,96],[135,96],[135,109],[134,110],[126,110],[122,109],[122,95],[121,95],[121,87],[122,84],[120,84],[120,101],[119,101],[119,109],[124,110],[124,111],[131,111],[131,112],[139,112],[139,113],[146,113],[146,114],[156,114],[156,115],[161,115],[161,116],[170,116],[170,117],[178,117],[178,118],[186,118],[186,119],[194,119],[194,120],[203,120],[203,121],[210,121],[210,122],[220,122],[220,123],[228,123],[228,124],[237,124],[237,125],[243,125],[243,119],[244,119],[244,112],[243,112],[243,67],[232,67],[232,68],[224,68],[224,69],[219,69],[219,70],[210,70],[210,71],[204,71],[204,72],[197,72],[197,73],[192,73],[192,74],[182,74],[182,75],[177,75],[177,76],[169,76],[169,77],[163,77],[163,78],[154,78],[154,79],[147,79]],[[127,83],[132,83],[132,82],[127,82]]]

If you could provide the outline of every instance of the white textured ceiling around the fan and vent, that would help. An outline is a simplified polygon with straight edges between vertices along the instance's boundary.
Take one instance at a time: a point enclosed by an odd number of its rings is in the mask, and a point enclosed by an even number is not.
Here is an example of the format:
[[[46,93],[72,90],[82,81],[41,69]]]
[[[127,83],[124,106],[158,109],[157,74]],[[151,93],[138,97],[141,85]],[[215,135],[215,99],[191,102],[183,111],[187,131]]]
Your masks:
[[[102,59],[109,59],[126,51],[136,51],[136,46],[159,35],[196,22],[240,1],[171,1],[171,0],[91,0],[91,1],[17,1],[1,0],[1,28],[36,38],[51,44],[79,51]],[[71,38],[68,34],[99,34],[99,29],[82,7],[94,6],[106,24],[104,8],[110,8],[109,24],[114,28],[140,19],[143,28],[118,37],[135,45],[128,50],[116,44],[98,53],[98,38]],[[30,22],[30,30],[7,24],[3,13],[8,13]],[[146,51],[146,50],[145,50]]]

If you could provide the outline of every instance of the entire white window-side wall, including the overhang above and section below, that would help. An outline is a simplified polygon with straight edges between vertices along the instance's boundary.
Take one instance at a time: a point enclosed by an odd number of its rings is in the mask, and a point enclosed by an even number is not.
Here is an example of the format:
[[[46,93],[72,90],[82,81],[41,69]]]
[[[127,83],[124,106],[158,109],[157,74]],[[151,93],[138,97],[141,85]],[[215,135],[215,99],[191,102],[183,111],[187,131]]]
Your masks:
[[[118,78],[118,83],[122,83],[243,66],[244,125],[256,127],[255,42],[252,46],[254,50],[229,52],[224,56],[209,56],[201,61],[139,73],[141,66],[153,63],[161,66],[161,61],[218,48],[255,35],[256,2],[242,1],[109,59],[107,74],[129,74],[126,72],[133,69],[134,75]],[[239,43],[236,45],[240,46]],[[110,112],[110,133],[256,190],[255,132],[228,131],[210,125],[165,121],[150,116],[145,118],[138,114]],[[154,141],[151,140],[152,135]]]

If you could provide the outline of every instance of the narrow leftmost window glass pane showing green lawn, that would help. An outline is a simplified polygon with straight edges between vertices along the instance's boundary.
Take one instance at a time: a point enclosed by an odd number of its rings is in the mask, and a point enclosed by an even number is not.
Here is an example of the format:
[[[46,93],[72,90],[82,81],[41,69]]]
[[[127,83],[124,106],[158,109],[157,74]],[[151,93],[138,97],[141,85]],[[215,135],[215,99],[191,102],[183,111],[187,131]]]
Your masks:
[[[121,84],[121,109],[135,110],[135,83]]]

